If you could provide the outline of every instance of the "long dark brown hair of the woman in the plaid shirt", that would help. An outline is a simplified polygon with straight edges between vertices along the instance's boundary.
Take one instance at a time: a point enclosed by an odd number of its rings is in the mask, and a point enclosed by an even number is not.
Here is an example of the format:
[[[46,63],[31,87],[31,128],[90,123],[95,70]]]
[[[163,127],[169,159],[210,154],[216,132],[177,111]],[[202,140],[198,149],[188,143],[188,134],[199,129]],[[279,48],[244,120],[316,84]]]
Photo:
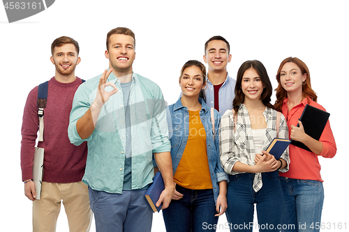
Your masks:
[[[265,66],[262,64],[262,62],[253,60],[253,61],[245,61],[240,66],[239,70],[237,71],[237,84],[235,85],[235,98],[232,101],[232,108],[234,109],[235,113],[239,110],[239,105],[244,102],[245,95],[242,92],[242,77],[244,76],[244,73],[249,68],[253,68],[259,75],[260,80],[265,87],[263,89],[262,95],[260,95],[260,100],[262,100],[263,104],[266,107],[270,107],[274,109],[274,106],[270,103],[272,100],[272,92],[273,87],[272,83],[270,82],[267,70],[265,69]]]

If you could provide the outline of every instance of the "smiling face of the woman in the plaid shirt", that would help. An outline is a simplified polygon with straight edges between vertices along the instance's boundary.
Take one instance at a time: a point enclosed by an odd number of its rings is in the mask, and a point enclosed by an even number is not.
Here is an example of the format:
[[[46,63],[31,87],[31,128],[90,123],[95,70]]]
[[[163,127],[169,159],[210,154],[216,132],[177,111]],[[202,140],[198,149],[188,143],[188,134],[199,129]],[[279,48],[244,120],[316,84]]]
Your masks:
[[[248,68],[248,70],[244,72],[241,88],[245,95],[245,101],[260,100],[264,86],[258,72],[254,68]]]

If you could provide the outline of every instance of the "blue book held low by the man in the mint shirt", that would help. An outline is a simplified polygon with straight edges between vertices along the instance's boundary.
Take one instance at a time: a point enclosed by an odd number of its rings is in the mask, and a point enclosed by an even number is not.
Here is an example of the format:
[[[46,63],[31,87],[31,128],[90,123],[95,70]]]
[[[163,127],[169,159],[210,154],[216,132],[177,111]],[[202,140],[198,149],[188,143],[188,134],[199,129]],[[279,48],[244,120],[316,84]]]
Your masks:
[[[161,176],[160,171],[158,171],[154,176],[153,183],[151,183],[147,192],[144,194],[153,212],[159,212],[161,207],[163,207],[162,203],[159,207],[156,207],[156,202],[158,202],[163,190],[165,190],[165,184],[163,183],[163,177]]]

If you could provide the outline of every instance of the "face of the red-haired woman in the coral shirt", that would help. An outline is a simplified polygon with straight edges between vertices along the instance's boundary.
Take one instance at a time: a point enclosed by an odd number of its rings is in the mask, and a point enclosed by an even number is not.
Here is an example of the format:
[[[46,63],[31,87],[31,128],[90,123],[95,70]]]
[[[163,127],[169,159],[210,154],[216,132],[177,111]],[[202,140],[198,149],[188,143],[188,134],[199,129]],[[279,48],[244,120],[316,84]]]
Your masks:
[[[287,92],[299,91],[302,93],[303,82],[306,80],[306,73],[302,74],[299,66],[293,62],[288,62],[283,65],[280,72],[281,86]]]

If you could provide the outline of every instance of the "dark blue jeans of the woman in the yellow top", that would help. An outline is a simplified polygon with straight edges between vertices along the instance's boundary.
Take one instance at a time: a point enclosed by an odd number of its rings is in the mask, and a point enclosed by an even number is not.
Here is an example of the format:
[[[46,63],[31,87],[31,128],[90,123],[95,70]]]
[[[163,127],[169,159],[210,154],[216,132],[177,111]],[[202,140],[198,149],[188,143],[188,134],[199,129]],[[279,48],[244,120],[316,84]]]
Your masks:
[[[189,190],[176,185],[184,194],[179,200],[172,200],[163,210],[167,232],[216,231],[218,217],[213,190]]]

